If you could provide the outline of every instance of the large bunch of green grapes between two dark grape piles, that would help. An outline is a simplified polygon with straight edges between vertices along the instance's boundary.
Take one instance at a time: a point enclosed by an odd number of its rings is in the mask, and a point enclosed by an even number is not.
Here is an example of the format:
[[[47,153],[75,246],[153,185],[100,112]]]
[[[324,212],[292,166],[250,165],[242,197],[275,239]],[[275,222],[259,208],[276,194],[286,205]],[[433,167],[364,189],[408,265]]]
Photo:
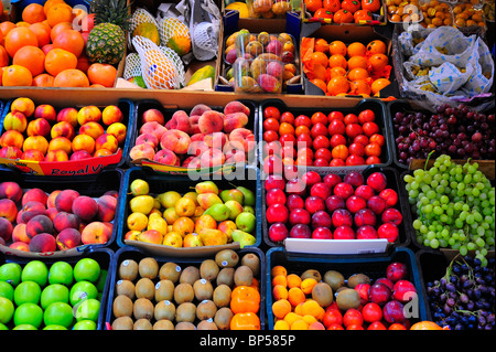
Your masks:
[[[431,248],[475,253],[483,266],[495,243],[495,188],[478,163],[438,157],[428,169],[403,177],[417,242]]]

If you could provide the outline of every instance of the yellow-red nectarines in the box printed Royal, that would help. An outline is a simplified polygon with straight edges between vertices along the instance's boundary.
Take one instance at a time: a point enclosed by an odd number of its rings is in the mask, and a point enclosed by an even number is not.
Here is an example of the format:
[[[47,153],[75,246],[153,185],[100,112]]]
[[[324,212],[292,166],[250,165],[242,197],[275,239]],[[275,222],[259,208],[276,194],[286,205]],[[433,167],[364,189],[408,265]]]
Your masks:
[[[2,121],[0,157],[60,162],[115,154],[127,127],[116,105],[65,107],[35,105],[26,97],[11,103]]]

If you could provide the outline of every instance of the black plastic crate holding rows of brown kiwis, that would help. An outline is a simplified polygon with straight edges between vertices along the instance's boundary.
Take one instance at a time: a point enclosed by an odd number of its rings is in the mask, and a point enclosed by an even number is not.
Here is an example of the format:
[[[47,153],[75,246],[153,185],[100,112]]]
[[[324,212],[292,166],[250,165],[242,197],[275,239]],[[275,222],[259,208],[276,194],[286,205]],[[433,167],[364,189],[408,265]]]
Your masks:
[[[266,329],[266,279],[265,279],[265,273],[266,273],[266,257],[263,252],[261,252],[259,248],[256,247],[245,247],[242,249],[236,250],[236,253],[239,255],[239,260],[240,258],[245,255],[245,254],[255,254],[259,257],[260,259],[260,274],[258,277],[256,277],[259,281],[259,288],[260,288],[260,310],[258,311],[258,316],[260,318],[260,329],[265,330]],[[137,263],[139,263],[139,260],[141,260],[142,258],[145,257],[153,257],[155,258],[155,260],[159,264],[159,268],[160,266],[162,266],[163,264],[168,263],[168,262],[172,262],[177,264],[179,266],[181,266],[182,269],[184,269],[187,266],[195,266],[200,268],[200,265],[203,260],[205,259],[214,259],[214,256],[206,256],[206,257],[197,257],[197,258],[186,258],[186,257],[165,257],[165,256],[150,256],[148,253],[145,253],[144,250],[137,248],[137,247],[132,247],[132,246],[123,246],[121,248],[119,248],[114,257],[114,263],[112,263],[112,267],[114,267],[114,271],[111,273],[111,277],[110,277],[110,289],[108,292],[108,300],[107,300],[107,309],[106,309],[106,316],[105,316],[105,324],[106,324],[106,330],[110,330],[111,329],[111,323],[115,319],[114,314],[112,314],[112,303],[114,303],[114,299],[116,298],[116,284],[118,281],[118,269],[119,266],[122,262],[127,260],[127,259],[133,259]],[[239,265],[239,264],[238,264]],[[153,282],[157,284],[160,280],[159,277],[157,277],[155,279],[153,279]],[[215,287],[215,285],[213,285]],[[196,302],[196,299],[193,301]],[[152,321],[154,321],[154,319],[152,319]],[[197,322],[197,321],[196,321]],[[195,323],[196,323],[195,322]]]

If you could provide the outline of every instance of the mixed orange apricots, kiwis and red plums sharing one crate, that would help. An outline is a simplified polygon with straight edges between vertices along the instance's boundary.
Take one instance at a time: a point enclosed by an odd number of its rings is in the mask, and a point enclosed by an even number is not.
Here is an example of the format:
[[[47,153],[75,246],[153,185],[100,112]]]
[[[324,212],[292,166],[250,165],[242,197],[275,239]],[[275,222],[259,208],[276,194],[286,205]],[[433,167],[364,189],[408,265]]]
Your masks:
[[[382,276],[345,277],[338,269],[271,268],[274,330],[409,330],[405,305],[417,288],[408,267],[388,265]]]

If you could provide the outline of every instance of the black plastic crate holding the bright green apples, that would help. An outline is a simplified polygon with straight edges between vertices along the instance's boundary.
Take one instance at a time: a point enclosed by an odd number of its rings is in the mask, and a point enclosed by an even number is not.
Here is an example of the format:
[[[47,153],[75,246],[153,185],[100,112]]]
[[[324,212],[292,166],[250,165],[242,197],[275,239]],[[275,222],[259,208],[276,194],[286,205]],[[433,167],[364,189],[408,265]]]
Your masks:
[[[111,274],[115,271],[114,256],[115,256],[114,250],[111,250],[109,248],[103,248],[103,247],[89,248],[89,250],[87,250],[84,256],[85,258],[93,258],[96,262],[98,262],[98,264],[100,265],[101,273],[105,273],[105,275],[106,275],[104,288],[101,291],[100,290],[98,291],[98,299],[100,300],[100,311],[98,314],[97,330],[104,330],[104,321],[105,321],[105,314],[106,314],[106,309],[107,309],[107,298],[108,298],[108,292],[109,292],[110,282],[111,282],[110,278],[111,278]],[[82,259],[82,257],[79,257],[79,256],[65,257],[65,258],[54,258],[54,257],[45,256],[45,257],[40,257],[36,260],[43,262],[50,269],[50,266],[56,262],[68,263],[74,268],[74,266],[76,265],[76,263],[79,259]],[[17,263],[17,264],[21,265],[21,267],[24,267],[24,265],[26,265],[29,262],[31,262],[29,258],[21,258],[19,256],[4,255],[4,254],[0,253],[0,266],[6,263]],[[99,285],[97,286],[97,288],[98,287],[99,287]],[[42,288],[42,290],[43,290],[43,288]],[[11,320],[10,323],[13,323],[13,320]],[[42,323],[40,330],[43,327],[44,327],[44,324]],[[9,328],[11,329],[13,327],[9,326]]]

